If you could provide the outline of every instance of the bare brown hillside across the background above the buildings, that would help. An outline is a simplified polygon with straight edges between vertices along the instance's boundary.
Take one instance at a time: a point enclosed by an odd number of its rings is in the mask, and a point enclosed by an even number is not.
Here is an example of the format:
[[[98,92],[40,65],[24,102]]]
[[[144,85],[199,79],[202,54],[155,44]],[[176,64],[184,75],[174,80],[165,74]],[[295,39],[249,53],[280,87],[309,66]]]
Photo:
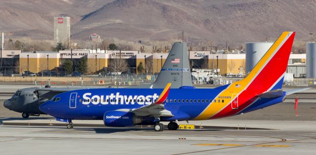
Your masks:
[[[315,0],[1,0],[0,31],[52,39],[53,16],[71,17],[72,39],[92,32],[122,40],[212,40],[224,44],[315,32]],[[28,33],[29,32],[29,33]]]

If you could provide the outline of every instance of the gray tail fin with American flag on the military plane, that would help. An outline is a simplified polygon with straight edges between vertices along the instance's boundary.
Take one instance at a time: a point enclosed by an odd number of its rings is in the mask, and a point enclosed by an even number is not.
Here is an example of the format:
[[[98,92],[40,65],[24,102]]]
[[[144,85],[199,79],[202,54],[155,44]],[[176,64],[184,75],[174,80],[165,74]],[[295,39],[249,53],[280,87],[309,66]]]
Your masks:
[[[193,87],[187,43],[185,42],[175,42],[173,44],[154,83],[129,88],[164,88],[167,83],[172,83],[171,88]]]

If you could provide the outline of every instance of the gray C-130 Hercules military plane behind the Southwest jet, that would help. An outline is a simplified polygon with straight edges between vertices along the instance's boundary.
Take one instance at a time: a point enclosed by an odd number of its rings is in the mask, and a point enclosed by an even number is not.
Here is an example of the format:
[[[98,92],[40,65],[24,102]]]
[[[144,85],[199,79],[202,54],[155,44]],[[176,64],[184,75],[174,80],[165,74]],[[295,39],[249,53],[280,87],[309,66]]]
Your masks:
[[[154,83],[129,88],[164,88],[168,83],[172,83],[171,88],[193,87],[185,42],[175,42],[173,44]],[[25,88],[16,91],[10,99],[4,101],[3,105],[9,110],[22,113],[23,118],[40,116],[40,114],[44,114],[39,109],[42,103],[59,93],[79,89],[86,88]]]

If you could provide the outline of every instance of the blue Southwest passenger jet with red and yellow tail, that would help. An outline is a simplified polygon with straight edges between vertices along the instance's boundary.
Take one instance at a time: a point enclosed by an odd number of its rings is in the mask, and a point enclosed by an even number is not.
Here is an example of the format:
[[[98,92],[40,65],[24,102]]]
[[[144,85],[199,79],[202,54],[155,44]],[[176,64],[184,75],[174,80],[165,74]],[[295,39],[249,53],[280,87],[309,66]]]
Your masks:
[[[232,84],[214,89],[170,89],[172,83],[164,89],[82,89],[57,94],[40,110],[68,122],[68,128],[73,127],[72,120],[103,120],[107,126],[119,127],[153,124],[156,131],[162,131],[160,122],[170,122],[168,129],[176,130],[177,121],[218,119],[265,108],[305,90],[282,90],[294,35],[283,32],[253,70]],[[166,61],[176,64],[177,59]]]

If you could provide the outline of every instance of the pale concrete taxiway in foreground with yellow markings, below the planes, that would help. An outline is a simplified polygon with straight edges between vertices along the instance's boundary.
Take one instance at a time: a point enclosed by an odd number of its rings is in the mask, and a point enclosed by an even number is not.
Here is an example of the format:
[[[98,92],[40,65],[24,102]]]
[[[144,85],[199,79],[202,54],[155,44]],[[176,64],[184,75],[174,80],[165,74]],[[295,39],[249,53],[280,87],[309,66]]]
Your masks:
[[[206,121],[213,125],[235,120]],[[247,121],[246,121],[247,122]],[[205,123],[205,122],[204,122]],[[153,131],[131,128],[62,126],[0,127],[0,150],[9,154],[105,154],[105,155],[209,155],[209,154],[315,154],[315,122],[254,121],[281,129],[229,129]],[[292,124],[287,127],[287,124]],[[295,127],[296,126],[296,127]]]

